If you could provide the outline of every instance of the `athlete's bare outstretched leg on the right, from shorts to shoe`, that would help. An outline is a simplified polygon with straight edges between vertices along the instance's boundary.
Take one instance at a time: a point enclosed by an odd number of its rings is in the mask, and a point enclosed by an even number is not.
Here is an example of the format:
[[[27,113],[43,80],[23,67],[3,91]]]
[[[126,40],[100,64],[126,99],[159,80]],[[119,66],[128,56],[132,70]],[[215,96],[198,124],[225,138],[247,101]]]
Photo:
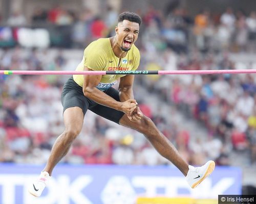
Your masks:
[[[187,175],[188,164],[179,155],[175,146],[157,129],[150,118],[143,116],[140,120],[133,122],[125,114],[119,123],[142,133],[160,155],[172,162],[185,176]]]

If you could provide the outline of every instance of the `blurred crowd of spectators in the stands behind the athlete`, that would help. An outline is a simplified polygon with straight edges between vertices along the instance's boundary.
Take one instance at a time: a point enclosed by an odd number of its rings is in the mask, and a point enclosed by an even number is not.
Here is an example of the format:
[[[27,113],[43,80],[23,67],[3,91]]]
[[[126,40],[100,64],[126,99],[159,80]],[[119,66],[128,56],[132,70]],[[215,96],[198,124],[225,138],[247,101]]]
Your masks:
[[[227,8],[221,15],[204,10],[192,17],[178,8],[163,16],[150,7],[139,14],[143,18],[136,44],[141,51],[139,69],[256,68],[256,61],[247,59],[256,52],[255,12]],[[68,25],[72,28],[70,43],[64,47],[72,48],[28,49],[20,47],[16,39],[14,48],[0,50],[0,69],[74,70],[82,59],[81,48],[111,36],[117,16],[111,8],[101,18],[89,9],[76,16],[60,7],[35,10],[29,20],[13,13],[7,22],[1,22],[5,28],[28,23]],[[0,162],[47,161],[53,142],[64,129],[60,94],[68,77],[0,76]],[[236,160],[232,155],[245,152],[245,165],[255,165],[255,79],[253,74],[136,76],[134,92],[142,112],[190,164],[212,159],[218,165],[232,165]],[[193,125],[188,128],[188,123]],[[141,134],[90,111],[62,162],[169,165]]]

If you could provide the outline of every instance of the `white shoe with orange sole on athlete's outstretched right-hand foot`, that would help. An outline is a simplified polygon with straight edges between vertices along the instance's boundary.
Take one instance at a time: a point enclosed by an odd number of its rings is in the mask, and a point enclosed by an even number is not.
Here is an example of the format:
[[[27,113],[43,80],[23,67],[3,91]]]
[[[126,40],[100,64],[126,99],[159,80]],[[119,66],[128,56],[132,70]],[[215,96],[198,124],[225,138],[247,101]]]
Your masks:
[[[214,171],[215,162],[208,161],[200,167],[188,166],[186,180],[191,188],[196,188],[208,175]]]

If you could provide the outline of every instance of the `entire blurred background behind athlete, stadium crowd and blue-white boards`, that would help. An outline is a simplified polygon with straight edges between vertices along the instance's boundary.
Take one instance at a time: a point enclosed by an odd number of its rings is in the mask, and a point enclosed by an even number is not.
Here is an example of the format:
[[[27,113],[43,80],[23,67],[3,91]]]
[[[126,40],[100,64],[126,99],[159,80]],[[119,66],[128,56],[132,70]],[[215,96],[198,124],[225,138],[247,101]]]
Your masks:
[[[75,70],[123,11],[143,20],[140,70],[256,69],[253,0],[0,0],[0,69]],[[256,193],[255,74],[138,75],[142,112],[189,164],[214,160],[212,176],[192,191],[143,135],[88,111],[49,191],[30,197],[28,180],[64,130],[68,78],[0,75],[0,203],[218,203],[218,194]]]

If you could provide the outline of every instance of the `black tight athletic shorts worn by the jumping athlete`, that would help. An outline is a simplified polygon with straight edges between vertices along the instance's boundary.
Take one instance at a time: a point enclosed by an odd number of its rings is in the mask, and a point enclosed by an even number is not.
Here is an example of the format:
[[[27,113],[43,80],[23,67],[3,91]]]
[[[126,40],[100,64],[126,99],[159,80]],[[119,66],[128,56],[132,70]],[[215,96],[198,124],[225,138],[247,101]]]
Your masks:
[[[105,94],[108,94],[115,100],[120,101],[119,92],[114,88],[109,88],[104,91]],[[83,95],[82,87],[80,87],[71,77],[64,85],[61,93],[61,104],[63,106],[63,113],[67,108],[70,107],[79,107],[83,111],[83,116],[86,114],[87,110],[96,113],[106,119],[109,119],[113,122],[119,124],[119,120],[124,115],[123,112],[117,111],[115,109],[102,106],[97,104],[94,100],[87,98]]]

